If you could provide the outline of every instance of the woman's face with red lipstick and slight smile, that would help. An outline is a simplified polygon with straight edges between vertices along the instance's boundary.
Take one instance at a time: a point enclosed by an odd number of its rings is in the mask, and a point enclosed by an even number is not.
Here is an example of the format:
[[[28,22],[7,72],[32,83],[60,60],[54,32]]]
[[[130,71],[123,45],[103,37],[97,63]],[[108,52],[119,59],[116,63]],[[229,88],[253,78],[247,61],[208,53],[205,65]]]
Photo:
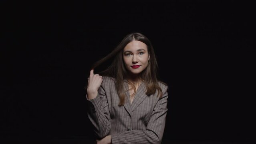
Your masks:
[[[127,70],[134,75],[141,73],[148,65],[149,53],[147,45],[133,40],[123,50],[123,61]]]

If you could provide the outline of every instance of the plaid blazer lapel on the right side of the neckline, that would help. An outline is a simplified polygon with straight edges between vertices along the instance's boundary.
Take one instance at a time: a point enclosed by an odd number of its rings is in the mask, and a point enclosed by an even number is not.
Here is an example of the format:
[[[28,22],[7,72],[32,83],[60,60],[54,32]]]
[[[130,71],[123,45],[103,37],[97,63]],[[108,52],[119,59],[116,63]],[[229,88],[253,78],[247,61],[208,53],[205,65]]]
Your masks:
[[[139,106],[139,104],[141,104],[141,102],[147,97],[146,91],[147,91],[147,88],[146,88],[145,82],[141,82],[135,94],[133,103],[131,104],[131,112],[133,112]]]

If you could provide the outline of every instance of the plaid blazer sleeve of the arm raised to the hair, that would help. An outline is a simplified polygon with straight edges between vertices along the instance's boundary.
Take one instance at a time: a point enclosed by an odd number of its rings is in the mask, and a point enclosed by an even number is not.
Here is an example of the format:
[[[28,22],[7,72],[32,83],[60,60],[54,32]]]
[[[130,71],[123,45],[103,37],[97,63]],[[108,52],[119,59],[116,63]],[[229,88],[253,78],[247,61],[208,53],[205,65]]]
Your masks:
[[[86,95],[88,100],[88,97]],[[107,136],[111,129],[111,118],[107,102],[106,92],[101,85],[96,98],[88,100],[89,110],[87,112],[89,120],[93,124],[94,132],[98,138]]]

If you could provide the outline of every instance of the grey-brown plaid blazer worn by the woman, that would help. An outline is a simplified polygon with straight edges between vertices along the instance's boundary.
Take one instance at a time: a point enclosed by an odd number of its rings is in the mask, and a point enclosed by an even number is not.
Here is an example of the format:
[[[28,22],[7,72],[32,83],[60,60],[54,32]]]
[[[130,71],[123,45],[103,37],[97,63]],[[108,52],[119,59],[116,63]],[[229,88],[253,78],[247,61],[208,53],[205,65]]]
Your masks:
[[[163,96],[147,96],[142,82],[130,102],[128,84],[125,82],[125,104],[118,106],[119,96],[114,78],[103,76],[96,98],[89,101],[88,117],[99,138],[111,135],[113,144],[160,144],[167,114],[167,86],[158,82]],[[87,96],[86,96],[87,97]]]

